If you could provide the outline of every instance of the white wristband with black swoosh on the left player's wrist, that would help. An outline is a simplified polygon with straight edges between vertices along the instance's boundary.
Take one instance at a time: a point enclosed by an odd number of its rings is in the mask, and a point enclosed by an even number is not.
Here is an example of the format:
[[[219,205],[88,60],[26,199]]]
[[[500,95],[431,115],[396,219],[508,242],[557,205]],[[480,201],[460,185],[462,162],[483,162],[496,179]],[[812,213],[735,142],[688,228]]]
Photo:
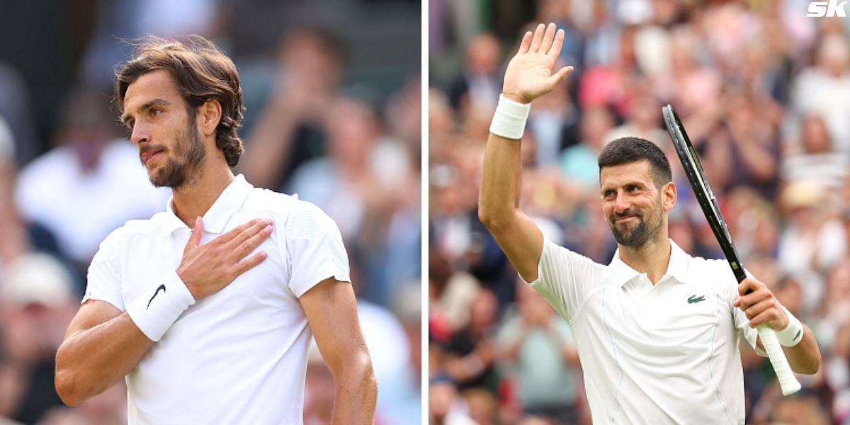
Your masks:
[[[156,343],[180,314],[194,303],[195,297],[173,271],[162,276],[127,305],[127,314],[144,336]]]

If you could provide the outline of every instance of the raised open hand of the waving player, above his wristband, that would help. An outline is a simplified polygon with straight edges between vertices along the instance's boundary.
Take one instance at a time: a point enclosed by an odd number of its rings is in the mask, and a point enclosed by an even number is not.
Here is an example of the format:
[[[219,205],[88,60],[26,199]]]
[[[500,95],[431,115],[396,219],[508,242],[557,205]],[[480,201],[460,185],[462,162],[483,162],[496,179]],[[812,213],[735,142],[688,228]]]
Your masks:
[[[532,35],[523,36],[519,51],[507,64],[501,94],[507,99],[527,104],[547,94],[573,71],[565,66],[553,74],[552,69],[564,44],[564,30],[555,31],[555,24],[540,24]]]

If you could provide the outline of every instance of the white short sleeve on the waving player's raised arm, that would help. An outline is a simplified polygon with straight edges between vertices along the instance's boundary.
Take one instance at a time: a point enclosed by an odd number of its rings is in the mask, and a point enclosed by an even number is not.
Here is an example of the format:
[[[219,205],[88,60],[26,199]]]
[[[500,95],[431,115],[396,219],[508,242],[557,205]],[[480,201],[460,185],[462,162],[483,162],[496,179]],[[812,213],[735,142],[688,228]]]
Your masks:
[[[590,258],[543,240],[537,264],[537,280],[530,285],[552,304],[555,311],[573,323],[587,300],[590,286],[602,282],[603,266]]]

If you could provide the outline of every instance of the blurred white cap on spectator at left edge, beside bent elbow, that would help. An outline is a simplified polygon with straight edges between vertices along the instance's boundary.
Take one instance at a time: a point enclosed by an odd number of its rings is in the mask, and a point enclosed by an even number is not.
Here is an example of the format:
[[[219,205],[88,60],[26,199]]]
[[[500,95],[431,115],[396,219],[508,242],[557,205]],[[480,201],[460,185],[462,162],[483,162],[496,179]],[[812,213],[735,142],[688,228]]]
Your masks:
[[[72,297],[71,275],[59,260],[44,253],[30,253],[9,263],[0,282],[0,303],[39,303],[54,307]]]

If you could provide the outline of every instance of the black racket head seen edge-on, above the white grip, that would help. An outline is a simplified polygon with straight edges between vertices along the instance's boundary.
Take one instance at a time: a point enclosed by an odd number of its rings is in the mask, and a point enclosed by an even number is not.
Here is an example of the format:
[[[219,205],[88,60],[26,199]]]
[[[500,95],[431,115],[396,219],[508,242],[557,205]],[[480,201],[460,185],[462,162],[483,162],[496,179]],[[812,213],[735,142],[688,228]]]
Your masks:
[[[714,233],[717,243],[723,250],[723,255],[726,256],[729,266],[732,267],[735,278],[738,281],[744,280],[746,277],[744,266],[740,263],[738,252],[735,251],[732,242],[732,236],[729,235],[726,220],[723,219],[720,207],[717,206],[717,198],[708,184],[706,172],[702,169],[700,158],[694,150],[694,145],[691,144],[688,133],[685,132],[682,121],[679,120],[676,110],[671,105],[661,108],[661,115],[664,116],[664,124],[667,127],[667,132],[670,133],[670,139],[672,139],[673,146],[676,148],[679,161],[682,162],[691,189],[694,190],[694,196],[696,196],[700,208],[711,226],[711,231]]]

